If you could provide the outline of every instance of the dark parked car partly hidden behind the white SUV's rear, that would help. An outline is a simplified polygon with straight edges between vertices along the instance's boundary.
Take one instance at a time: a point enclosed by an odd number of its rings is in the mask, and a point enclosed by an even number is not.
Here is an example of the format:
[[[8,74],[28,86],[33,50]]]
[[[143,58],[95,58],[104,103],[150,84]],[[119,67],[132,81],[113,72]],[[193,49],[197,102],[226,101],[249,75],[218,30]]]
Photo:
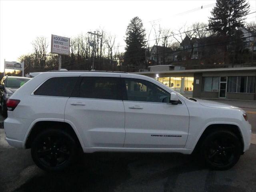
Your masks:
[[[30,78],[16,77],[16,76],[4,76],[0,81],[0,107],[1,115],[7,116],[6,101],[12,94],[24,85]]]

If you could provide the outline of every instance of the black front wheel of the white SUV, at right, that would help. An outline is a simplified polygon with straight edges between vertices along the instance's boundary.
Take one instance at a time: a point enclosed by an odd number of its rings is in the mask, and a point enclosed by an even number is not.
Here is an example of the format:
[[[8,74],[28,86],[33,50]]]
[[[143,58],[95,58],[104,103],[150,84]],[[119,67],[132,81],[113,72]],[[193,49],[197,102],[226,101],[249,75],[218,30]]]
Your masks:
[[[238,162],[242,144],[233,132],[216,130],[204,138],[200,151],[209,168],[228,170]]]

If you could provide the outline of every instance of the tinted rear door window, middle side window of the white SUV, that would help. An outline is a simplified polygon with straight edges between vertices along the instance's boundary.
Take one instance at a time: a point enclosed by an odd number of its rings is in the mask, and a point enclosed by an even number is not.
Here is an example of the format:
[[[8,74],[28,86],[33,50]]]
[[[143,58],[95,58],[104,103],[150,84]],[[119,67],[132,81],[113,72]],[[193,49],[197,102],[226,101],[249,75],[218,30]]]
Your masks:
[[[119,81],[115,77],[83,77],[79,97],[122,100]]]

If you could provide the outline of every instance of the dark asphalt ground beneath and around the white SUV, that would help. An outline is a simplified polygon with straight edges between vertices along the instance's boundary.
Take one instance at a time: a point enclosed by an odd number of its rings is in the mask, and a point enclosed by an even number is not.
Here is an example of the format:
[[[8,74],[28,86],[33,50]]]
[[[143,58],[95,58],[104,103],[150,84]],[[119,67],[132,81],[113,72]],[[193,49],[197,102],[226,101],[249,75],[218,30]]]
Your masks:
[[[248,104],[248,106],[252,105]],[[243,107],[247,113],[256,111],[255,108],[248,108],[245,104],[240,107]],[[249,115],[249,121],[255,132],[254,117],[254,113]],[[227,171],[208,170],[193,156],[182,154],[95,153],[84,154],[81,160],[66,172],[51,174],[40,170],[33,163],[30,150],[9,146],[5,140],[4,130],[0,129],[1,192],[254,192],[255,190],[255,144],[251,144],[250,150],[241,156],[238,164]]]

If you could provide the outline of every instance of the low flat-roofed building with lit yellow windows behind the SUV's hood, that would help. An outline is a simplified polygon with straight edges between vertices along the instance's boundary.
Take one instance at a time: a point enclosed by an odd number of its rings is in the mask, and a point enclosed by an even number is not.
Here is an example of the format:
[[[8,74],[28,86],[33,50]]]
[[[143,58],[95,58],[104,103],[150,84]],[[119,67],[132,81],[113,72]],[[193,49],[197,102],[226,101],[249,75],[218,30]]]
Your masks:
[[[256,100],[256,67],[185,70],[150,66],[135,74],[152,77],[186,97]]]

